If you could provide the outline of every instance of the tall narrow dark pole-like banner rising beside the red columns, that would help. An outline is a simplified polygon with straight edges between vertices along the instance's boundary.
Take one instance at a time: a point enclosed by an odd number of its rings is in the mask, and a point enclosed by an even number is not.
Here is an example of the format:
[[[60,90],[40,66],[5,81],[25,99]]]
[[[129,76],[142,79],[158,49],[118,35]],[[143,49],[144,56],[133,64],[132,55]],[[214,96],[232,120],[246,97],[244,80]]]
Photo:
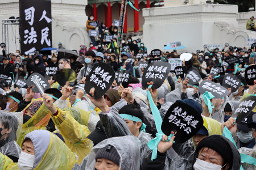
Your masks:
[[[119,54],[122,49],[123,25],[125,24],[126,5],[127,5],[127,0],[122,0],[120,18],[119,18],[119,27],[118,27],[118,37],[117,37],[117,48],[119,48]],[[118,54],[118,62],[119,62],[119,54]]]

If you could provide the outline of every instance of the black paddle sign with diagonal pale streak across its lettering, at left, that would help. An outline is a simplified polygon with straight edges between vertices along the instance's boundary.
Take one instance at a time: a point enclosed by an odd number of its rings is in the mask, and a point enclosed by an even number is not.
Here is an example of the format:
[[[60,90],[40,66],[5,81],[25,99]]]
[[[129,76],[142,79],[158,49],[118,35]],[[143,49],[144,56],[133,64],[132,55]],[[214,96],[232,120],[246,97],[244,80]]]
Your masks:
[[[47,88],[49,88],[49,83],[48,83],[47,79],[44,78],[43,75],[41,75],[39,73],[33,73],[27,79],[27,86],[30,86],[30,87],[34,86],[34,87],[31,87],[32,91],[34,91],[36,93],[40,93],[38,87],[36,87],[36,84],[34,82],[33,76],[35,76],[38,79],[39,83],[43,87],[43,91],[45,91]]]

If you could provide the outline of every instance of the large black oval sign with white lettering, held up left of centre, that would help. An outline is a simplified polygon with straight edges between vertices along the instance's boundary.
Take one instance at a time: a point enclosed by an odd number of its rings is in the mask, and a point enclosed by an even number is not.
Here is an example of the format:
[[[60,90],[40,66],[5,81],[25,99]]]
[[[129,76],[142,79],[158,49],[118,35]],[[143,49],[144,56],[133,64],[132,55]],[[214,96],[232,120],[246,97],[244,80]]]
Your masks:
[[[106,63],[97,63],[93,66],[90,74],[86,76],[84,86],[86,94],[90,95],[90,89],[95,88],[94,99],[100,99],[114,82],[115,71]]]

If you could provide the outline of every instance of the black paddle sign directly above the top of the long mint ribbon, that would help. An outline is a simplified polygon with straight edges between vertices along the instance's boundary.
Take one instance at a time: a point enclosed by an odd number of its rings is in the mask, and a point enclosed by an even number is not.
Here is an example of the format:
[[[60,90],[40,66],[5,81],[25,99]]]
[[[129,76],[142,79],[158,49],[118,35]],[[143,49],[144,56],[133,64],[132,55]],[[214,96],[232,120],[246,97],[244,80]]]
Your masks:
[[[148,64],[142,76],[142,87],[147,88],[147,83],[153,82],[152,89],[159,88],[170,71],[171,65],[168,62],[159,61]]]

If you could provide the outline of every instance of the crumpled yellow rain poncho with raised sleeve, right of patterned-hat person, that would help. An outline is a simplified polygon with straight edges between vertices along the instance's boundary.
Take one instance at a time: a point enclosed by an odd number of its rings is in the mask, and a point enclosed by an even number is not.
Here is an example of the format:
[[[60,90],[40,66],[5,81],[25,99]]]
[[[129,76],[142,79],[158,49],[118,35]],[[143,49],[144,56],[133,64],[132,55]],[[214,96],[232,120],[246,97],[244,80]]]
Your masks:
[[[92,142],[86,138],[90,131],[84,125],[88,124],[86,122],[89,121],[89,114],[79,108],[67,108],[64,111],[57,108],[57,110],[59,114],[57,116],[52,115],[52,121],[63,136],[66,145],[79,157],[77,163],[80,164],[92,148]]]

